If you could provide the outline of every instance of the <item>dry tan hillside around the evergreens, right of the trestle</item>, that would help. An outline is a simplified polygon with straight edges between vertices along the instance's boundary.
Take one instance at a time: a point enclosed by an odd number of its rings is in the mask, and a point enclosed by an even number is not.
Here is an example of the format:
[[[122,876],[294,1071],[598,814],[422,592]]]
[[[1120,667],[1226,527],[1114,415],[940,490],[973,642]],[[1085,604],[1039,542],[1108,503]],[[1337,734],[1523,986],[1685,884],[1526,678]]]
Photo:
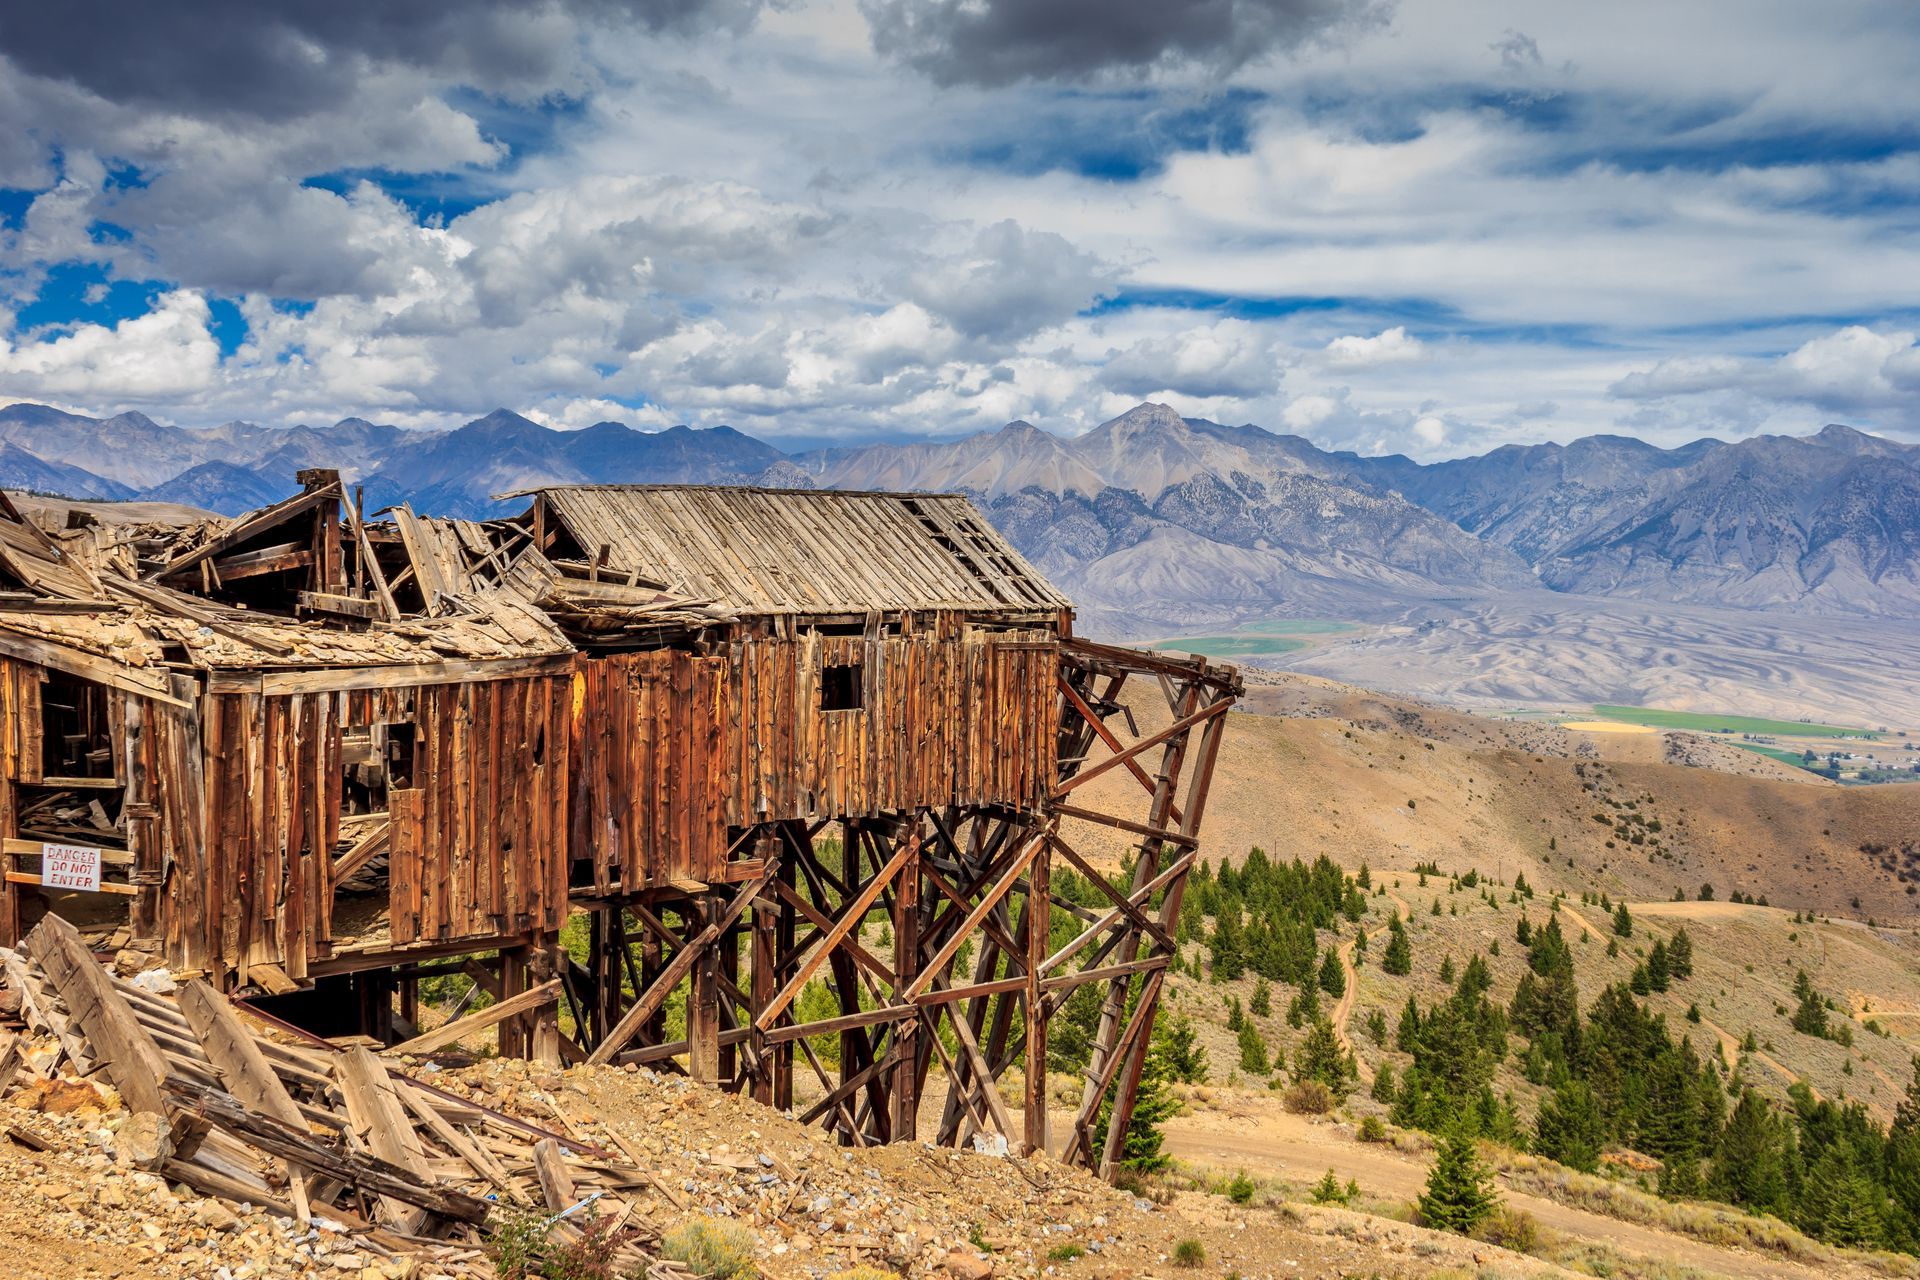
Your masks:
[[[1152,702],[1135,704],[1142,722],[1154,718]],[[1181,1088],[1187,1109],[1167,1123],[1169,1150],[1219,1178],[1248,1171],[1284,1188],[1277,1194],[1306,1196],[1327,1169],[1357,1182],[1367,1201],[1417,1194],[1430,1140],[1400,1128],[1386,1142],[1359,1136],[1367,1117],[1400,1121],[1390,1100],[1371,1096],[1380,1077],[1404,1080],[1415,1061],[1394,1029],[1409,998],[1423,1009],[1446,1002],[1453,973],[1475,956],[1488,998],[1505,1009],[1528,975],[1523,919],[1536,933],[1559,921],[1582,1015],[1607,986],[1644,981],[1655,944],[1686,931],[1688,977],[1638,996],[1649,1015],[1774,1107],[1789,1107],[1789,1088],[1805,1086],[1812,1102],[1859,1100],[1884,1126],[1920,1050],[1914,833],[1920,787],[1836,787],[1688,733],[1565,731],[1273,677],[1229,722],[1208,844],[1231,864],[1260,846],[1279,862],[1325,854],[1350,875],[1365,869],[1359,915],[1315,940],[1338,952],[1344,990],[1321,992],[1319,1009],[1354,1052],[1357,1080],[1332,1117],[1286,1103],[1311,1015],[1292,1023],[1296,990],[1269,988],[1252,967],[1221,981],[1219,921],[1183,919],[1169,1017],[1190,1021],[1208,1073]],[[1085,827],[1071,839],[1108,858],[1123,852]],[[1713,900],[1699,900],[1707,887]],[[1194,910],[1208,912],[1208,900],[1202,887]],[[1603,904],[1630,910],[1626,936]],[[1411,944],[1404,975],[1382,963],[1396,917]],[[1801,975],[1830,1002],[1832,1036],[1795,1029]],[[1229,1004],[1271,1063],[1288,1067],[1248,1071]],[[1507,1044],[1492,1088],[1530,1134],[1549,1088],[1530,1075],[1526,1040]],[[1548,1255],[1563,1265],[1605,1242],[1701,1274],[1847,1268],[1780,1222],[1649,1194],[1663,1165],[1626,1146],[1601,1157],[1607,1176],[1521,1153],[1496,1163],[1507,1205],[1561,1242]],[[1741,1249],[1728,1251],[1736,1242]]]

